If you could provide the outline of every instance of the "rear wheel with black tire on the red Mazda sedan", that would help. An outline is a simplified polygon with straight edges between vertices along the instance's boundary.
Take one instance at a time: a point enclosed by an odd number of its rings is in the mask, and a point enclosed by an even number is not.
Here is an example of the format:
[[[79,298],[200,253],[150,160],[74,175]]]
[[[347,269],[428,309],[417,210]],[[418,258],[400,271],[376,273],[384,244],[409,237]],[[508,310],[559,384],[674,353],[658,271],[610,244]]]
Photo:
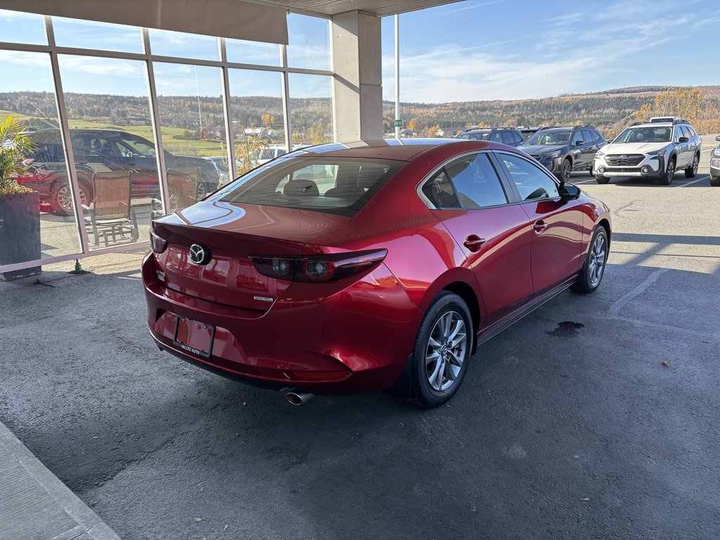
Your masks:
[[[473,328],[470,310],[457,294],[441,292],[433,300],[410,359],[410,399],[416,405],[438,407],[455,395],[467,372]]]

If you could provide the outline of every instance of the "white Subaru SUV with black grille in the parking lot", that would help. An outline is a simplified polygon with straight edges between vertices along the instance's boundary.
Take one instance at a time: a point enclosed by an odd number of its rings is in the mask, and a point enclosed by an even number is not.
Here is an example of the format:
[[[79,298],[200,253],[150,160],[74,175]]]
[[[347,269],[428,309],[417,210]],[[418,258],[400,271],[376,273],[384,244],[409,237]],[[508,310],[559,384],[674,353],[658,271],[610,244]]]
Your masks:
[[[687,120],[656,117],[636,122],[610,144],[600,148],[593,161],[598,184],[612,177],[652,178],[671,184],[675,171],[698,174],[702,140]]]

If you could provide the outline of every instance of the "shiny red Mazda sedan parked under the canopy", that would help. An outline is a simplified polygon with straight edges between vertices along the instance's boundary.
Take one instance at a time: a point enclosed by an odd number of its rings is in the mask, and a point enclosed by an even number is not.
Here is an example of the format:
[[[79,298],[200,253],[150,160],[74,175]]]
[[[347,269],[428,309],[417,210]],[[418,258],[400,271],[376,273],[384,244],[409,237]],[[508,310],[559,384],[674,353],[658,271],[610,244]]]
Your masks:
[[[153,222],[158,346],[300,403],[393,390],[433,407],[470,355],[603,279],[611,218],[533,158],[481,141],[327,144]]]

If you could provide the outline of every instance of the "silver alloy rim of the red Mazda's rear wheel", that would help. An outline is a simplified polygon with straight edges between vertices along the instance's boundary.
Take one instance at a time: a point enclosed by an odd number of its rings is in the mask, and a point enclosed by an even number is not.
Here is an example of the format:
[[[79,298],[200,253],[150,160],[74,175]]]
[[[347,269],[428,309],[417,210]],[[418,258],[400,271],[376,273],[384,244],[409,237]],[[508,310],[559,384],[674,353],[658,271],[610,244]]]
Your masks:
[[[466,352],[467,329],[462,315],[444,313],[433,326],[426,348],[426,377],[433,390],[442,392],[454,384]]]

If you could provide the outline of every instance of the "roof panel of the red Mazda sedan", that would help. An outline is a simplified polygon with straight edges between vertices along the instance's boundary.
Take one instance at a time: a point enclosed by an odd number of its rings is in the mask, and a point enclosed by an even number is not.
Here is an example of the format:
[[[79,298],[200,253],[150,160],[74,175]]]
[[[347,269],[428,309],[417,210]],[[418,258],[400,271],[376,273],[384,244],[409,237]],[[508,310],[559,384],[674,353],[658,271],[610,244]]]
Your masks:
[[[508,149],[510,147],[479,140],[467,139],[379,139],[356,140],[349,143],[328,143],[294,150],[287,156],[328,156],[343,158],[374,158],[410,161],[428,150],[445,145],[458,145],[459,150]],[[285,157],[285,156],[283,156]]]

